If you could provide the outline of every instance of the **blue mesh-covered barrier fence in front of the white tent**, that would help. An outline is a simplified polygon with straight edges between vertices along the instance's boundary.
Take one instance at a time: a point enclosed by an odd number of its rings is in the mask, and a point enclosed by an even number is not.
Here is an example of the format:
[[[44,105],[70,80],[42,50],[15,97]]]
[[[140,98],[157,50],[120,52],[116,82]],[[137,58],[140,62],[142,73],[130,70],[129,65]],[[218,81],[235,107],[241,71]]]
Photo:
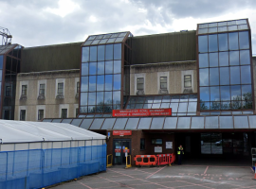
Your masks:
[[[106,170],[106,145],[0,152],[0,189],[43,188]]]

